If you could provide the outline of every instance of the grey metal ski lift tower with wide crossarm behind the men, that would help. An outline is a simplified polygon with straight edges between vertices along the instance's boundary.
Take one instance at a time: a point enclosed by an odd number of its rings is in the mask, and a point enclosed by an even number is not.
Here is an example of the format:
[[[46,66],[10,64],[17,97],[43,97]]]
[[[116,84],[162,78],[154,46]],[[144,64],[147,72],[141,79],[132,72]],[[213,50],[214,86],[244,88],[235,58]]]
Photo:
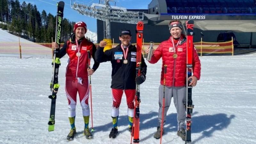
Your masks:
[[[108,43],[110,41],[112,43],[110,22],[137,24],[144,19],[143,12],[127,11],[124,7],[116,6],[114,0],[100,0],[99,4],[92,3],[91,5],[71,0],[71,8],[82,15],[105,21],[104,37],[108,40]]]

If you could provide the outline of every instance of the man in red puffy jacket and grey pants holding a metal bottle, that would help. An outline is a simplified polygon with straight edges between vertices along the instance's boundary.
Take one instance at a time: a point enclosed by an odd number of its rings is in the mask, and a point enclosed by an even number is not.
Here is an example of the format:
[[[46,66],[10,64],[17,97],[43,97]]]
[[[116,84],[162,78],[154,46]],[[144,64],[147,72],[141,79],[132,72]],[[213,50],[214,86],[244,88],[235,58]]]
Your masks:
[[[163,119],[163,132],[164,124],[166,121],[166,113],[170,107],[171,99],[173,97],[174,105],[177,111],[178,131],[177,135],[186,139],[185,132],[185,118],[186,112],[184,102],[186,100],[186,64],[187,64],[187,42],[186,37],[182,34],[182,24],[179,20],[172,20],[169,24],[169,31],[171,36],[168,40],[163,41],[153,52],[152,58],[149,63],[156,63],[162,57],[162,72],[159,86],[159,111],[158,111],[158,126],[154,138],[161,137],[161,122]],[[149,48],[146,49],[149,53]],[[164,84],[164,65],[167,65],[165,90],[163,91]],[[193,76],[188,77],[192,79],[190,85],[196,86],[197,80],[200,79],[201,63],[194,46],[193,49]],[[164,104],[164,118],[162,118],[163,110],[163,94],[165,93]]]

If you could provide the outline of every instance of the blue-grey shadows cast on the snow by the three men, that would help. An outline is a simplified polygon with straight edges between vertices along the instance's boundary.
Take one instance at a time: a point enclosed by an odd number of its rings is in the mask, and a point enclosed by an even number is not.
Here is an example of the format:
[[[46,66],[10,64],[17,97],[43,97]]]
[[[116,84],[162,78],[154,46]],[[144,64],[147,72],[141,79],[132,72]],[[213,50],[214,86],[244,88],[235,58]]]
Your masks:
[[[193,115],[196,115],[198,112],[194,112]],[[158,125],[158,112],[149,112],[146,114],[140,114],[140,130],[154,128],[155,131],[148,135],[147,137],[140,138],[140,141],[149,139],[153,137],[153,134],[156,132],[156,127]],[[170,132],[177,131],[177,113],[171,113],[166,116],[166,123],[164,126],[165,134],[167,135]],[[204,137],[211,137],[212,133],[217,130],[223,130],[228,127],[231,122],[231,119],[235,118],[235,115],[228,116],[225,113],[218,113],[214,115],[202,115],[202,116],[192,116],[192,134],[193,133],[201,133],[202,135],[198,137],[196,140],[193,140],[195,143],[198,140],[203,139]],[[102,125],[94,127],[95,132],[103,131],[109,133],[112,128],[112,121]],[[118,131],[119,134],[128,131],[128,116],[119,116],[118,118],[118,126],[127,126],[126,129],[122,131]]]

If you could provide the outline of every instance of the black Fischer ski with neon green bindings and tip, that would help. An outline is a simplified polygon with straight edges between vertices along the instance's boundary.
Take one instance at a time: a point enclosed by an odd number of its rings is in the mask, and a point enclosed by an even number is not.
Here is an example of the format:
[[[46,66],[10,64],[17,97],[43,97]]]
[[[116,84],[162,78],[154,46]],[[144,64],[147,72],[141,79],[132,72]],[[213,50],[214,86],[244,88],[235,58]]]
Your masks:
[[[52,60],[52,81],[50,83],[50,88],[52,91],[52,95],[49,96],[52,99],[51,110],[50,110],[50,118],[48,122],[48,131],[54,131],[55,125],[55,105],[56,105],[56,97],[57,92],[60,87],[58,82],[58,74],[60,67],[60,35],[62,29],[62,18],[63,18],[63,10],[64,10],[64,2],[60,1],[57,3],[57,17],[56,17],[56,33],[55,33],[55,42],[59,44],[59,48],[54,50],[54,56]]]

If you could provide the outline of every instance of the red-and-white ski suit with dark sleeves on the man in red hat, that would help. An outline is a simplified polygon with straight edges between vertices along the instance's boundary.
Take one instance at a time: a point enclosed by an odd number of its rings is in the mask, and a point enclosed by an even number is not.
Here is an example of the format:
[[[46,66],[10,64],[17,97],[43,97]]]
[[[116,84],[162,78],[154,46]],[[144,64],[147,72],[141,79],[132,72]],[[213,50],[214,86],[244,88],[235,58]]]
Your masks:
[[[76,95],[79,94],[80,104],[83,110],[83,116],[90,115],[88,98],[90,94],[89,81],[88,81],[88,50],[92,58],[94,59],[94,53],[96,51],[95,45],[84,39],[71,43],[67,41],[61,51],[61,57],[68,54],[69,60],[66,68],[66,82],[65,90],[68,98],[68,117],[74,117],[76,115]],[[77,53],[80,56],[77,56]],[[90,56],[90,57],[91,57]],[[99,67],[99,63],[94,60],[93,70]]]

